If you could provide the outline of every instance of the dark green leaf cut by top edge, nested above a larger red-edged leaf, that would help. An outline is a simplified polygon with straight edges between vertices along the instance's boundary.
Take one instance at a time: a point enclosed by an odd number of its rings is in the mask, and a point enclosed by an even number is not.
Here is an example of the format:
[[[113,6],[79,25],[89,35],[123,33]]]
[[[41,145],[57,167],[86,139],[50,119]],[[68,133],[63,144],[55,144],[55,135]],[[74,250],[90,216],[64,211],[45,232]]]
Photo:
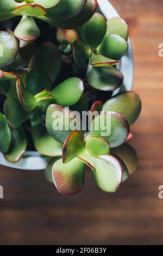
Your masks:
[[[47,10],[46,17],[54,20],[67,20],[83,9],[86,0],[61,0],[55,7]]]

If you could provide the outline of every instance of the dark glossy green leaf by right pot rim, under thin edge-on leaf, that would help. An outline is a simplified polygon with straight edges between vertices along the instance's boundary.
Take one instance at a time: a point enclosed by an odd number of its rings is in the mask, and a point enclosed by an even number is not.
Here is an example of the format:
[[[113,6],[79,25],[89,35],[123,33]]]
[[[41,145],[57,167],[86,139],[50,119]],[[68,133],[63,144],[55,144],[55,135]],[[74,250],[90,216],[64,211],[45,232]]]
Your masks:
[[[123,75],[112,66],[94,67],[89,65],[87,69],[87,81],[97,90],[112,92],[122,85]]]

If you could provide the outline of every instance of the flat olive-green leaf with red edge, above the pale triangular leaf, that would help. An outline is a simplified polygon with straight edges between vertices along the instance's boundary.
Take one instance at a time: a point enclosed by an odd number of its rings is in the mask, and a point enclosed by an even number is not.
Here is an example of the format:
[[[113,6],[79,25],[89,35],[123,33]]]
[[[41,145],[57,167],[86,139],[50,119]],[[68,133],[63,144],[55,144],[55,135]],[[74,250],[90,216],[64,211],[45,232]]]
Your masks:
[[[39,4],[24,4],[14,9],[15,13],[27,16],[43,16],[46,14],[46,9]]]

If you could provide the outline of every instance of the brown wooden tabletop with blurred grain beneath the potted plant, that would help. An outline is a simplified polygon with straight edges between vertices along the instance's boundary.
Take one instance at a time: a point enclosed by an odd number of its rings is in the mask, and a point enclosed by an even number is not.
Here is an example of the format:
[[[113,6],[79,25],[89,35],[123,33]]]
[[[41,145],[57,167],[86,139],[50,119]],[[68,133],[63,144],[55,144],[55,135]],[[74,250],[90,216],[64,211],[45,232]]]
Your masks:
[[[0,166],[0,244],[163,244],[162,0],[111,0],[127,20],[134,50],[134,90],[142,112],[131,131],[139,168],[114,194],[99,191],[86,173],[83,191],[59,194],[42,171]]]

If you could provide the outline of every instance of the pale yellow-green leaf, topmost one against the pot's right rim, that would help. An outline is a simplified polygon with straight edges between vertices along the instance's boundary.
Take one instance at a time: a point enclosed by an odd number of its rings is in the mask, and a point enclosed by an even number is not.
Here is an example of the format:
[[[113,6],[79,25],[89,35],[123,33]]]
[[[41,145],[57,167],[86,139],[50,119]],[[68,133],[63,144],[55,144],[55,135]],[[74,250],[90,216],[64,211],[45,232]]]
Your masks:
[[[120,17],[113,17],[107,22],[106,35],[120,35],[122,38],[127,40],[128,38],[128,26],[126,21]]]

